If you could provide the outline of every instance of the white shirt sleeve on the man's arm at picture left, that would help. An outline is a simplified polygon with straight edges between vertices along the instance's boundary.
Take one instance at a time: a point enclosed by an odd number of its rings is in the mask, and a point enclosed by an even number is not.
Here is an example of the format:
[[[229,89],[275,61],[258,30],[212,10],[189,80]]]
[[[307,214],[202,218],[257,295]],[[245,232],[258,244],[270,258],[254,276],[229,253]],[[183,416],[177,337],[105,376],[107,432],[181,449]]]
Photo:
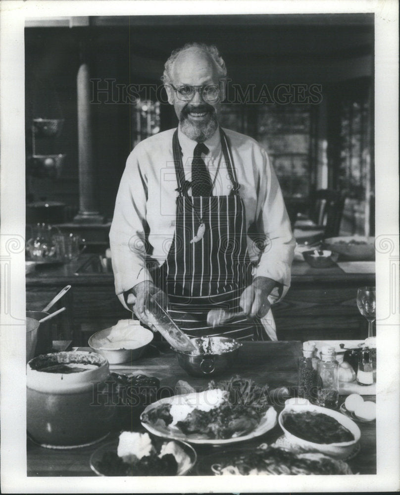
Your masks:
[[[124,292],[152,280],[146,267],[147,195],[146,171],[140,167],[138,146],[127,159],[109,233],[115,292],[123,304]]]

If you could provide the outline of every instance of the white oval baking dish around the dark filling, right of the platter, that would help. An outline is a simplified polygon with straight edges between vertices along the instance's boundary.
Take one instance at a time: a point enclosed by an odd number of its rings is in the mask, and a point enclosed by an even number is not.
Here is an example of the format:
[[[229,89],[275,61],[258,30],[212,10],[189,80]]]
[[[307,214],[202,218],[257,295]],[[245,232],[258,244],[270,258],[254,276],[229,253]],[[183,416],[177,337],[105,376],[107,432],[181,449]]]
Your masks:
[[[331,416],[332,418],[339,421],[341,425],[347,428],[354,437],[354,440],[350,442],[338,442],[332,444],[315,444],[314,442],[308,442],[307,440],[303,440],[299,437],[296,437],[292,433],[288,432],[283,425],[283,418],[285,415],[290,413],[300,413],[306,411],[315,411],[320,412],[322,414],[326,414],[327,416]],[[326,407],[319,407],[317,405],[289,405],[286,406],[285,409],[280,413],[278,418],[279,426],[285,433],[285,437],[292,443],[306,449],[306,450],[317,450],[318,452],[322,452],[323,454],[331,455],[337,459],[344,459],[350,455],[354,446],[360,440],[361,432],[358,426],[352,421],[350,418],[341,414],[340,412],[333,411],[332,409],[328,409]]]

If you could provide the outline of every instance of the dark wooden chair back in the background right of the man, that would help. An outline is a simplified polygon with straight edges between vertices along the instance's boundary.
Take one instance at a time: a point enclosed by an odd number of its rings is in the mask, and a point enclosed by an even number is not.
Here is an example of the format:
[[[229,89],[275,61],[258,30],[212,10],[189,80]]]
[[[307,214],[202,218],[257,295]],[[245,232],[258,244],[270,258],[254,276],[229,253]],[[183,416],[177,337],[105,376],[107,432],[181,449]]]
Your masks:
[[[333,189],[319,189],[311,193],[310,219],[325,227],[324,237],[337,237],[340,231],[345,197]]]

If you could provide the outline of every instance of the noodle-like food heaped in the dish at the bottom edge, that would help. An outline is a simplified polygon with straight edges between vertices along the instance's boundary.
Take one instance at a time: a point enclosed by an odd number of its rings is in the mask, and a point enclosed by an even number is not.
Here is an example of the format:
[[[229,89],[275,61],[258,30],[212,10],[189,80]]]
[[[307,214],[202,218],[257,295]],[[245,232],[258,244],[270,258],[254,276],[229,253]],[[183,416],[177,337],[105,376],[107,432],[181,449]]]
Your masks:
[[[352,474],[346,462],[321,453],[296,453],[283,448],[267,446],[247,452],[224,455],[223,460],[211,465],[216,475],[300,475]]]

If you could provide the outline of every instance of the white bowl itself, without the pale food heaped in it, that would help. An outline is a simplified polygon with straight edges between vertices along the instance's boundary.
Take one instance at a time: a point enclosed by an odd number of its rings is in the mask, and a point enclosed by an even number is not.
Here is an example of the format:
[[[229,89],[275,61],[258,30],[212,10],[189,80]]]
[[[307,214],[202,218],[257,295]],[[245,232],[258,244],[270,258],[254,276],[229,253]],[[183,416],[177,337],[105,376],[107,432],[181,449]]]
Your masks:
[[[135,328],[135,338],[138,340],[137,347],[129,349],[108,349],[107,347],[102,347],[99,340],[106,339],[110,335],[111,330],[112,327],[100,330],[89,337],[88,341],[89,346],[98,354],[105,357],[109,364],[120,364],[139,359],[154,337],[151,330],[148,330],[138,324]]]

